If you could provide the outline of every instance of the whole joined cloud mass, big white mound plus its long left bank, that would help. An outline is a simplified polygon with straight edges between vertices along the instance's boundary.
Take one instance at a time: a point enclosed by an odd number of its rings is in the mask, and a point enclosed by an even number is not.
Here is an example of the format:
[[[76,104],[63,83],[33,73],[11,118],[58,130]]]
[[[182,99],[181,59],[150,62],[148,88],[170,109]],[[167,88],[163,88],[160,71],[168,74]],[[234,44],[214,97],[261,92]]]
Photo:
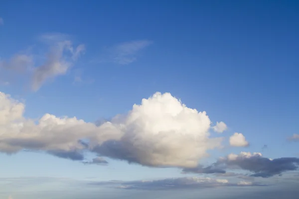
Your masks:
[[[0,151],[42,150],[83,160],[86,150],[153,167],[196,167],[222,138],[210,138],[210,119],[169,93],[155,93],[127,115],[101,125],[75,117],[23,117],[24,104],[0,93]],[[85,140],[85,141],[82,141]],[[95,160],[94,162],[96,162]]]

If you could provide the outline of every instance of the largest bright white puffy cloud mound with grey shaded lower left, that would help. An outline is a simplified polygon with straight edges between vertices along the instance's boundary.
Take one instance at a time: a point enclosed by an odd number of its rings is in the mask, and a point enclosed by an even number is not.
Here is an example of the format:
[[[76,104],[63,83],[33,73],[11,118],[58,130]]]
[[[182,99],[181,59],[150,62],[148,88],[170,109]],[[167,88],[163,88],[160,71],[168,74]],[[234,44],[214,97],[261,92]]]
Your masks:
[[[205,111],[188,108],[169,93],[143,99],[112,123],[123,133],[121,139],[95,146],[94,151],[147,166],[195,167],[222,141],[209,138],[211,122]]]

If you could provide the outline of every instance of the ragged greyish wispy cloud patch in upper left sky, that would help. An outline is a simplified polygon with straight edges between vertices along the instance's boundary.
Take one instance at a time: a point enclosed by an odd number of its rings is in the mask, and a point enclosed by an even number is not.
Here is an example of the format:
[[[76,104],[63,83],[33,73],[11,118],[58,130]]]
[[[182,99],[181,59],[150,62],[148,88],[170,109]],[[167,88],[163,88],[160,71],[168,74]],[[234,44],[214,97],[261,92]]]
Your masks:
[[[48,33],[40,35],[38,40],[47,48],[40,64],[36,64],[38,56],[31,52],[17,53],[8,60],[0,60],[0,70],[30,76],[33,91],[37,91],[48,80],[65,75],[85,52],[83,44],[74,47],[65,34]]]

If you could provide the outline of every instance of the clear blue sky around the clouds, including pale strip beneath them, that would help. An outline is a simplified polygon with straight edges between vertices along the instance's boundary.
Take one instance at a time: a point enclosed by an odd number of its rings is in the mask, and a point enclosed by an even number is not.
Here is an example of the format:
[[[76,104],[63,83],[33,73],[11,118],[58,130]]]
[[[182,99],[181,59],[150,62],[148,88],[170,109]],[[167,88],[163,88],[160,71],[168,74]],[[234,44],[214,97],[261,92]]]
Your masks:
[[[39,39],[44,34],[65,34],[86,50],[66,74],[36,92],[29,89],[27,74],[8,77],[0,71],[0,91],[24,100],[25,117],[51,113],[88,122],[126,113],[155,92],[169,92],[188,107],[207,111],[213,123],[224,121],[225,137],[241,132],[250,143],[213,151],[211,160],[241,151],[298,157],[298,144],[287,142],[299,133],[298,10],[296,0],[1,0],[1,60],[26,52],[40,65],[47,50]],[[134,41],[148,43],[132,52],[127,64],[111,61],[118,46]],[[182,176],[175,168],[117,160],[110,160],[113,166],[88,169],[45,154],[0,157],[7,178],[47,173],[76,179],[95,175],[98,180]],[[112,168],[117,174],[109,173]]]

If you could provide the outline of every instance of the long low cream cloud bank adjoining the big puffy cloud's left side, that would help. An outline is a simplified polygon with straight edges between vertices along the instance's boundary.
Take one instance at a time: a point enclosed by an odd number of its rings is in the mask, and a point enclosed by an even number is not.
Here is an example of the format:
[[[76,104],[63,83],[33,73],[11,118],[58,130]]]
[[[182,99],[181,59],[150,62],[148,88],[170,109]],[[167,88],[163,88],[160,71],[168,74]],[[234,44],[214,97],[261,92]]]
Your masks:
[[[86,146],[80,139],[97,135],[105,128],[105,125],[97,127],[75,117],[59,118],[51,114],[45,114],[35,122],[24,118],[23,112],[23,103],[0,93],[1,152],[43,150],[61,158],[81,160],[81,150]],[[105,136],[105,132],[101,136]],[[109,136],[114,138],[113,134]]]

